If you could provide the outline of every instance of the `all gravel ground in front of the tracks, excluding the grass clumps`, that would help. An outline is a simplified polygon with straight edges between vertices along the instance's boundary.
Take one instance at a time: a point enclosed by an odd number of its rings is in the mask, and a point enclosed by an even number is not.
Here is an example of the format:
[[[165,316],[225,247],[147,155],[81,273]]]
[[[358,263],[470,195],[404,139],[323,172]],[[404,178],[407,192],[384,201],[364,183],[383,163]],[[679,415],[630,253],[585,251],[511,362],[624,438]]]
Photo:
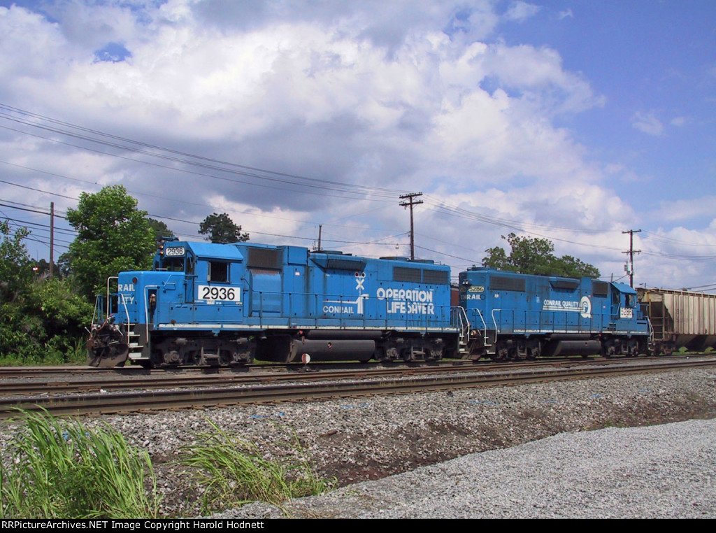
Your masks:
[[[715,422],[673,424],[715,417],[716,371],[674,370],[100,420],[149,451],[166,516],[200,516],[176,459],[211,421],[266,456],[311,458],[341,487],[224,517],[715,518]]]

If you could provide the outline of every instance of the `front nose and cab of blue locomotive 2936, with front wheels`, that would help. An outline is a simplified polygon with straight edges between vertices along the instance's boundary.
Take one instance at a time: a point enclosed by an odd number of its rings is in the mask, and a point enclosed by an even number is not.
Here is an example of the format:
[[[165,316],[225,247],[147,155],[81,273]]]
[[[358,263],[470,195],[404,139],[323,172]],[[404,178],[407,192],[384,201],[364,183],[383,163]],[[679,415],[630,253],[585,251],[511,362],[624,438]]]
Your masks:
[[[236,246],[168,241],[155,254],[153,267],[120,272],[116,292],[110,278],[93,319],[89,365],[132,360],[149,368],[251,360],[246,337],[226,333],[243,323],[246,275]]]

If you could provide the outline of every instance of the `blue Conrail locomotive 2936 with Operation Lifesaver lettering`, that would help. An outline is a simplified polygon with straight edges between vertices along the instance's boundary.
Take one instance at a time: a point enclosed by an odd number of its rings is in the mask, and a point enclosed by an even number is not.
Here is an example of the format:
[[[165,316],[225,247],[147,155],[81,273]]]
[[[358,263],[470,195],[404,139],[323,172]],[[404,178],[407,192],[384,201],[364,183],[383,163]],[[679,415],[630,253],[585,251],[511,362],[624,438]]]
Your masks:
[[[435,360],[458,343],[450,269],[432,261],[169,241],[107,287],[88,341],[100,367]]]

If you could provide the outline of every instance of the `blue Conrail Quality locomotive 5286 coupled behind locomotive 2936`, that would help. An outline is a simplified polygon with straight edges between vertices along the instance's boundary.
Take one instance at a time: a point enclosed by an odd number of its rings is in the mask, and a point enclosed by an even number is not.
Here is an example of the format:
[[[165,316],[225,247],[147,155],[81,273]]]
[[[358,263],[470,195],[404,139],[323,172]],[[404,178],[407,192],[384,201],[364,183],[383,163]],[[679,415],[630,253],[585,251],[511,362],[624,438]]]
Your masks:
[[[473,267],[460,273],[459,297],[475,360],[648,350],[649,321],[628,285]]]

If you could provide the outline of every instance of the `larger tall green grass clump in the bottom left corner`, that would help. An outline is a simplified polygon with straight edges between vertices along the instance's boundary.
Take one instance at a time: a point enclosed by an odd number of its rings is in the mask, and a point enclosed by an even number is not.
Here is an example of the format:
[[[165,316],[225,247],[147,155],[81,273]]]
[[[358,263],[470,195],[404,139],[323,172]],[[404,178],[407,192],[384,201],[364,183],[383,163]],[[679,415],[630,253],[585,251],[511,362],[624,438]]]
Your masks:
[[[23,411],[17,421],[0,464],[0,518],[158,517],[149,455],[120,432],[47,412]]]

